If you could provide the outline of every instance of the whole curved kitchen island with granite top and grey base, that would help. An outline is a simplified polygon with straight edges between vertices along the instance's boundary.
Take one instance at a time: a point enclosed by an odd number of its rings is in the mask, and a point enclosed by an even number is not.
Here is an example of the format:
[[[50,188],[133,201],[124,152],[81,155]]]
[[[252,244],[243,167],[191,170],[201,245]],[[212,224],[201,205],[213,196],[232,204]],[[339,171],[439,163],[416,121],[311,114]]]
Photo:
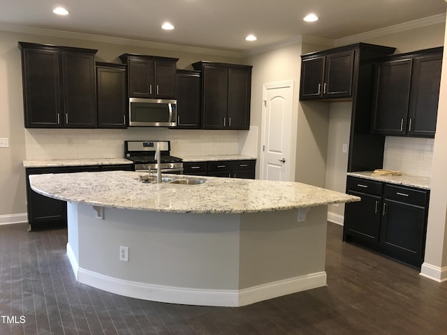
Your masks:
[[[358,200],[293,182],[145,184],[140,175],[29,181],[68,202],[67,254],[80,283],[177,304],[243,306],[326,285],[326,207]]]

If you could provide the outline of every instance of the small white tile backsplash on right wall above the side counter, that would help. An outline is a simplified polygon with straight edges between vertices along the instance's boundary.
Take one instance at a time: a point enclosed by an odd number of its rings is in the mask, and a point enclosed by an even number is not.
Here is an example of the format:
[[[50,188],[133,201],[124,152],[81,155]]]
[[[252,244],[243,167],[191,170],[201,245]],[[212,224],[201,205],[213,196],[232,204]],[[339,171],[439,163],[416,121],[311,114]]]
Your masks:
[[[432,138],[386,137],[383,168],[420,177],[432,177]]]

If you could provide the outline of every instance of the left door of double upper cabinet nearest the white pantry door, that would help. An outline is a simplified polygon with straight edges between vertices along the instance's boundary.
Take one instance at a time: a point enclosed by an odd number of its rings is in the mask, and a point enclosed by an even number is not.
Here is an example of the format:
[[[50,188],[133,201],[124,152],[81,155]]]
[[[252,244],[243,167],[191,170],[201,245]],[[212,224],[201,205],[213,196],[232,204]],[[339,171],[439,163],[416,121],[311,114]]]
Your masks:
[[[228,68],[203,68],[203,129],[225,129],[228,110]]]

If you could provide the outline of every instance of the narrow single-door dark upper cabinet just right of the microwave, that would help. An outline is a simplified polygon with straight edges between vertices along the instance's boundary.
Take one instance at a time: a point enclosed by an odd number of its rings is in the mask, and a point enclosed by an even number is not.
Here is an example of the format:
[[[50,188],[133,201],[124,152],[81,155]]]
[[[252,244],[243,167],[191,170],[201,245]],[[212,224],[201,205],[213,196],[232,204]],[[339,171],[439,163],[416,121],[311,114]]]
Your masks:
[[[200,73],[177,73],[177,128],[200,128]]]

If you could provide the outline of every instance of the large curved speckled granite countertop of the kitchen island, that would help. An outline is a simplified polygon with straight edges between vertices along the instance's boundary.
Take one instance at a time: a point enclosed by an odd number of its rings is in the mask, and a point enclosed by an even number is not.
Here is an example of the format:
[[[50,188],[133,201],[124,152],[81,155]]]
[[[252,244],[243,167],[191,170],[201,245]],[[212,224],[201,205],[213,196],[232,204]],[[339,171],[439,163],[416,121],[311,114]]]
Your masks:
[[[34,174],[29,181],[34,191],[54,199],[173,213],[281,211],[360,200],[353,195],[295,182],[204,177],[207,181],[198,185],[144,184],[138,181],[138,176],[144,174],[126,171]]]

